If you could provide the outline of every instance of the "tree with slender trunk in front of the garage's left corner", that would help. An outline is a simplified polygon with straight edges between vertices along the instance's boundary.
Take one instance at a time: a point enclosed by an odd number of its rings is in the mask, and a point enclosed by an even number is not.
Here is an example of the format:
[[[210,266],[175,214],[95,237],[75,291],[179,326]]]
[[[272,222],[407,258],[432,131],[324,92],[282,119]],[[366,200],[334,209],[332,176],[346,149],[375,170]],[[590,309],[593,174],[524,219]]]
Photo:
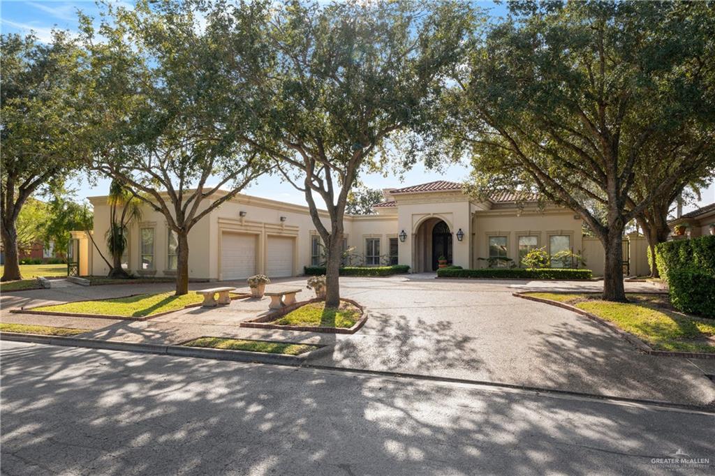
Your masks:
[[[237,15],[250,26],[253,12]],[[97,77],[96,120],[104,126],[97,129],[106,131],[92,168],[164,216],[177,238],[176,294],[187,294],[189,231],[265,170],[258,154],[235,141],[235,129],[247,129],[250,119],[240,104],[247,76],[224,74],[223,39],[190,4],[142,1],[107,15],[102,43],[92,22],[83,22]],[[246,49],[251,33],[242,29]]]

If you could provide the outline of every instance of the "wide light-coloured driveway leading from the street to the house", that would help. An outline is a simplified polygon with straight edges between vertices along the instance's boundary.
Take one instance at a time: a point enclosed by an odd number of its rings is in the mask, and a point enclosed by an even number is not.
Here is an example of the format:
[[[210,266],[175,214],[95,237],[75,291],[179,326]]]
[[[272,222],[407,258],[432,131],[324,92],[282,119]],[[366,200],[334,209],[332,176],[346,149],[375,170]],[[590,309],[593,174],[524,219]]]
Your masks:
[[[244,287],[244,282],[235,283]],[[305,279],[285,284],[305,285]],[[332,344],[315,365],[415,373],[666,402],[712,405],[715,385],[695,360],[638,352],[611,330],[548,304],[518,299],[524,289],[598,290],[600,282],[441,280],[428,275],[341,278],[341,292],[365,305],[370,319],[357,334],[242,329],[232,308],[187,310],[145,322],[68,318],[59,325],[95,329],[91,337],[180,342],[198,335],[285,339]],[[212,284],[192,285],[195,289]],[[80,288],[80,287],[77,287]],[[87,299],[172,289],[170,284],[104,286],[16,293],[8,304]],[[628,283],[633,291],[648,283]],[[227,315],[225,325],[217,312]],[[5,314],[4,320],[20,320]],[[22,322],[38,322],[22,316]]]

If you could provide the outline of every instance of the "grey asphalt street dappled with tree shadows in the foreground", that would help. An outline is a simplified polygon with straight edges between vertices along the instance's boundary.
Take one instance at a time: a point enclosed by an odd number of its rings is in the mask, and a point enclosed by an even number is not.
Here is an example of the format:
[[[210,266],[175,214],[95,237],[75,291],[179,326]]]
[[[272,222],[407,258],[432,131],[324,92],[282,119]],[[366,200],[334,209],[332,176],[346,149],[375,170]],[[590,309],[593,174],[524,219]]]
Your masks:
[[[1,376],[4,475],[715,470],[696,410],[18,342]]]

